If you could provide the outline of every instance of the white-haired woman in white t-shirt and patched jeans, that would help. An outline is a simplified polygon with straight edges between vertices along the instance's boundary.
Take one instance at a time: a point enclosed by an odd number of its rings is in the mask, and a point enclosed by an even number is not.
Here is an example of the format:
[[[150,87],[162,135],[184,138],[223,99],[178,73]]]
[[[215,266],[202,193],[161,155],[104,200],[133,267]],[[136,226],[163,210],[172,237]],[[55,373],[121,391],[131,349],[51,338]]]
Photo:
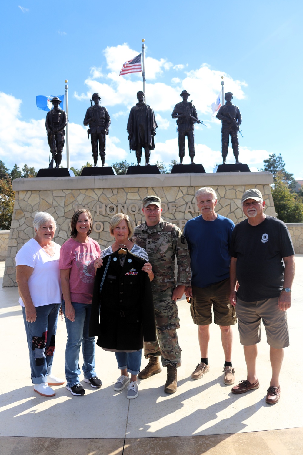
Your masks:
[[[65,382],[51,374],[61,306],[61,247],[52,241],[56,222],[49,213],[37,212],[33,226],[35,237],[16,255],[16,280],[30,350],[31,380],[35,392],[50,397],[55,395],[50,385]]]

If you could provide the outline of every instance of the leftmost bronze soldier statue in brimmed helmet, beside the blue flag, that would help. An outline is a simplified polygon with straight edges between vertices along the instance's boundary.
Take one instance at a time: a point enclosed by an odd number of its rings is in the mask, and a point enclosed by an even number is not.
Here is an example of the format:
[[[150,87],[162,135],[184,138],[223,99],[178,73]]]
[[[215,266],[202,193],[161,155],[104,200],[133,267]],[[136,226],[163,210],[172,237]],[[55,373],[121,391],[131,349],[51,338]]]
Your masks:
[[[54,96],[52,100],[52,109],[46,114],[45,128],[47,131],[47,142],[50,146],[50,153],[52,159],[50,161],[49,168],[54,167],[54,160],[56,163],[55,167],[60,167],[62,160],[62,150],[64,147],[64,136],[66,126],[66,114],[65,111],[60,109],[59,104],[61,100]]]

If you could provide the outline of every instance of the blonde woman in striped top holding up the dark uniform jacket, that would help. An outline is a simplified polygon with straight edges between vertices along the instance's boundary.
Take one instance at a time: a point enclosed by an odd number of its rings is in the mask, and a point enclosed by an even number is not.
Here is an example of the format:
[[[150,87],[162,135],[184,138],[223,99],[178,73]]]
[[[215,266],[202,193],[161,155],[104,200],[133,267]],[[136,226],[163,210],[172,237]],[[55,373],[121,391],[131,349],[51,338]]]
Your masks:
[[[114,253],[119,247],[124,245],[131,253],[146,260],[142,270],[148,273],[149,279],[152,281],[154,279],[154,272],[152,271],[152,265],[149,262],[148,254],[144,248],[139,247],[129,240],[134,233],[134,223],[128,215],[124,215],[124,213],[117,213],[117,215],[114,215],[109,223],[109,233],[115,238],[115,242],[109,248],[102,251],[101,257],[104,258],[105,256]],[[94,267],[99,268],[102,264],[103,261],[99,258],[95,261]],[[126,396],[129,399],[136,398],[139,394],[137,374],[140,371],[142,349],[133,352],[114,350],[114,353],[118,362],[118,368],[121,371],[121,376],[114,384],[114,390],[120,391],[124,389],[125,385],[128,384],[130,380]],[[129,373],[131,375],[130,378]]]

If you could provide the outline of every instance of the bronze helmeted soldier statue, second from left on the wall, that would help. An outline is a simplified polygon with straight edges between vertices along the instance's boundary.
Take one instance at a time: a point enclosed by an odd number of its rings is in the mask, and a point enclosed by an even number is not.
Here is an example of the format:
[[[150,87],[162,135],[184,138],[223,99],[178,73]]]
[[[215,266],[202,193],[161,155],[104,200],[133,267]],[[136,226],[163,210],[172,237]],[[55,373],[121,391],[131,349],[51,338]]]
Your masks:
[[[110,117],[106,107],[99,105],[99,101],[101,101],[99,93],[93,93],[92,100],[94,101],[94,106],[89,107],[88,110],[86,111],[83,125],[84,126],[89,125],[87,134],[88,136],[90,134],[90,142],[94,158],[94,167],[97,166],[98,162],[98,141],[99,152],[103,167],[105,162],[106,146],[105,136],[109,134]],[[92,100],[90,100],[90,104],[92,104],[91,102]]]

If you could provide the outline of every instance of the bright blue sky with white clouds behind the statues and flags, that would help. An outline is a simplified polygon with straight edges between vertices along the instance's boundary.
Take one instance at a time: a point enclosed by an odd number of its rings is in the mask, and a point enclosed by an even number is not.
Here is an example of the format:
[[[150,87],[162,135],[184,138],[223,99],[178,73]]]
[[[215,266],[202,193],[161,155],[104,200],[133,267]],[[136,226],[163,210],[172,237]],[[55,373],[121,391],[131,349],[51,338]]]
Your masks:
[[[178,159],[171,112],[184,89],[208,125],[195,128],[195,162],[208,172],[221,162],[221,125],[210,106],[224,76],[243,117],[240,160],[257,170],[268,154],[281,153],[286,169],[303,179],[302,2],[18,2],[1,5],[0,159],[8,167],[47,167],[46,112],[36,108],[35,96],[61,95],[65,79],[70,164],[92,162],[83,119],[93,91],[112,119],[106,163],[135,162],[126,125],[142,77],[119,70],[145,38],[146,101],[159,125],[152,163]]]

